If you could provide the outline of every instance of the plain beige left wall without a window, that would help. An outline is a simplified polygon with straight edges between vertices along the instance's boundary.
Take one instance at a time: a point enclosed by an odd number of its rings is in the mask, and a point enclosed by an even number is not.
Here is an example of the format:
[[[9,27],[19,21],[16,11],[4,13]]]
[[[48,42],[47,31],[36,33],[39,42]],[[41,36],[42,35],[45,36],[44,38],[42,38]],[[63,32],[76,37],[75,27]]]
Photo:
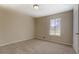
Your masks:
[[[34,38],[34,19],[0,7],[0,46]]]

